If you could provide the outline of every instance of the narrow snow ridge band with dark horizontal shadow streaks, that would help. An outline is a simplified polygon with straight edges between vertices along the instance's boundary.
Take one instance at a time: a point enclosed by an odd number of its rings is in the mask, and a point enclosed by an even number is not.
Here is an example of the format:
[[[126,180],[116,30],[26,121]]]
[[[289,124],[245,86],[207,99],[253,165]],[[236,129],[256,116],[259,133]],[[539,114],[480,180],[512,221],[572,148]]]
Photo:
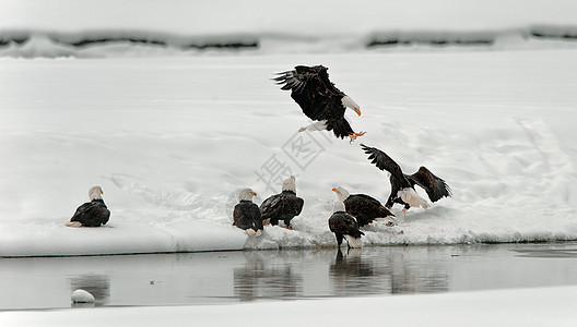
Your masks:
[[[2,32],[0,56],[15,58],[166,57],[201,53],[358,52],[363,50],[575,48],[575,26],[481,31],[375,31],[358,35],[247,33],[182,36],[158,32]]]

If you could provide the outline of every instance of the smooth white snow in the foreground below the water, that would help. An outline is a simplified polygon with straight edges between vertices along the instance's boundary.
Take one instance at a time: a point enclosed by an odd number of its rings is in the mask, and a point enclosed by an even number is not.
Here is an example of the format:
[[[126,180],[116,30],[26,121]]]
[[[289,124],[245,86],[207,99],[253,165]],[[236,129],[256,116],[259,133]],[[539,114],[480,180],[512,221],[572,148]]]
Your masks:
[[[384,322],[393,326],[574,326],[577,288],[498,290],[427,295],[282,301],[234,305],[110,307],[4,312],[7,326],[269,326],[281,312],[290,312],[281,326],[363,325]],[[338,314],[335,311],[351,314]],[[226,312],[225,315],[222,313]]]

